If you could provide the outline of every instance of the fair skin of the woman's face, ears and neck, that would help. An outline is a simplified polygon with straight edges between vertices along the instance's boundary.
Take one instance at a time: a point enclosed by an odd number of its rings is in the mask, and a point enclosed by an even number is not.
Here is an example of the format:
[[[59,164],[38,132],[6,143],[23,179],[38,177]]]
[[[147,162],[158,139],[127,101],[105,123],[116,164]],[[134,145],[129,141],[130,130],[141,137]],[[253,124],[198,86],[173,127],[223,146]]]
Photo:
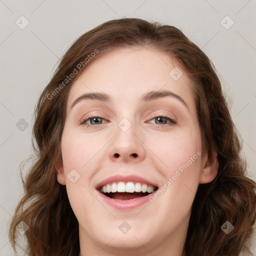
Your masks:
[[[199,123],[189,78],[185,71],[174,80],[169,72],[178,65],[167,53],[145,47],[120,48],[91,61],[71,87],[61,138],[62,161],[57,180],[66,185],[79,224],[79,256],[162,255],[181,256],[191,205],[199,183],[217,174],[216,158],[202,149]],[[141,96],[151,90],[169,90],[174,96],[148,102]],[[112,100],[85,99],[71,104],[83,93],[104,92]],[[186,104],[186,105],[185,105]],[[95,122],[89,115],[98,116]],[[167,115],[168,119],[153,116]],[[101,117],[101,118],[99,118]],[[131,126],[123,131],[118,123]],[[95,124],[96,123],[96,124]],[[201,152],[181,175],[166,186],[176,170]],[[80,177],[71,182],[75,169]],[[95,186],[103,179],[134,174],[165,191],[153,202],[130,210],[105,203]],[[130,230],[118,226],[126,221]]]

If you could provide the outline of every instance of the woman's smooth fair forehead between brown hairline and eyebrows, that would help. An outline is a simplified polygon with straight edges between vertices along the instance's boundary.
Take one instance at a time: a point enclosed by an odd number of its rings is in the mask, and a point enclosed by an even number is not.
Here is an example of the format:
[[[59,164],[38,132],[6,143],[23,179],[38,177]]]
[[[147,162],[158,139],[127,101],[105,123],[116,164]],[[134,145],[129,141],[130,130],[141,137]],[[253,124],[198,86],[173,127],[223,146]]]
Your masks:
[[[166,52],[146,47],[123,47],[103,53],[88,63],[71,87],[67,107],[81,94],[104,92],[115,103],[141,100],[151,90],[171,90],[193,104],[189,79]]]

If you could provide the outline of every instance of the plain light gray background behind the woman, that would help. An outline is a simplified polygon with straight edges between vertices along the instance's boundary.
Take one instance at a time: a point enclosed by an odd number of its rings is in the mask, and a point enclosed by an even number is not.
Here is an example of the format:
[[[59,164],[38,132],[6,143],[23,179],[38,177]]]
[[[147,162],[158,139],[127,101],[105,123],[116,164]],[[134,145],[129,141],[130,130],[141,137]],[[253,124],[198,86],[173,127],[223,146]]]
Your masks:
[[[230,98],[247,175],[256,180],[255,10],[255,0],[0,0],[0,255],[14,254],[7,227],[23,194],[18,165],[32,153],[36,100],[74,39],[110,19],[174,25],[209,56]]]

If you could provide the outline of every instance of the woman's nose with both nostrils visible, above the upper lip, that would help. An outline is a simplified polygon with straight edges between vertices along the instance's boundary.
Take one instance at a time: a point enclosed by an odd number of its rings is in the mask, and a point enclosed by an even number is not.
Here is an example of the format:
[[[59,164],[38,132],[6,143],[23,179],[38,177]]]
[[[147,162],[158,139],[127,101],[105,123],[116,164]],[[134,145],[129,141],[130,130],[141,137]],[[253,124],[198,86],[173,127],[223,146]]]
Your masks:
[[[109,148],[109,158],[119,162],[139,162],[145,157],[145,144],[135,125],[123,131],[119,127]]]

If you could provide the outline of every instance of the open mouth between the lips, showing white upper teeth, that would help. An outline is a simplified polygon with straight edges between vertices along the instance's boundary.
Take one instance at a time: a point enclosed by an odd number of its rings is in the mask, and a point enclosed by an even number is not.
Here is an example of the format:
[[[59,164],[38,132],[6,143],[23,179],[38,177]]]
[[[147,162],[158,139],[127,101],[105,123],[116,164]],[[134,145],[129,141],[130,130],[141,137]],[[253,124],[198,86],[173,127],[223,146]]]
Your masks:
[[[98,188],[105,196],[119,200],[129,200],[146,196],[157,189],[157,186],[147,185],[141,182],[111,182]]]

